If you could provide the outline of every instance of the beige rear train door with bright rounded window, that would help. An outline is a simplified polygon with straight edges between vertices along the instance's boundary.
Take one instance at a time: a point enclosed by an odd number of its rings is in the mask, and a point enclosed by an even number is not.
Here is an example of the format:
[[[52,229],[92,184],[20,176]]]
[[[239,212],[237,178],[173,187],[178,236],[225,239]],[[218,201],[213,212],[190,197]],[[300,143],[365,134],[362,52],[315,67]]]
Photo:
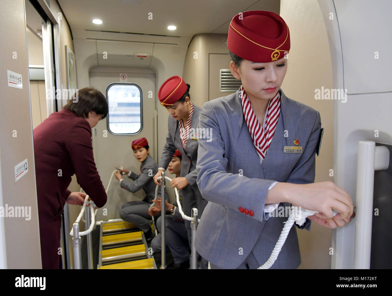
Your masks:
[[[109,102],[108,117],[93,129],[94,159],[107,188],[111,173],[119,165],[139,173],[140,163],[131,149],[133,140],[145,137],[150,155],[157,161],[157,116],[152,96],[155,73],[151,69],[94,67],[89,78],[90,86],[105,94]],[[98,210],[96,220],[120,218],[123,203],[144,198],[142,190],[131,193],[120,188],[114,177],[107,196],[108,202]]]

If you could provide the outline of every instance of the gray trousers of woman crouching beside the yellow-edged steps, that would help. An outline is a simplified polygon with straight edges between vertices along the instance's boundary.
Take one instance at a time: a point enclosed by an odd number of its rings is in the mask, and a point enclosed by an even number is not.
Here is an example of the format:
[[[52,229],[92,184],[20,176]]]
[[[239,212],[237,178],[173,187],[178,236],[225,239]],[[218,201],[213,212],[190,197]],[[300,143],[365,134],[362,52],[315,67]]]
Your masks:
[[[136,225],[144,232],[149,231],[151,216],[148,209],[151,203],[136,201],[124,203],[121,207],[121,218]]]

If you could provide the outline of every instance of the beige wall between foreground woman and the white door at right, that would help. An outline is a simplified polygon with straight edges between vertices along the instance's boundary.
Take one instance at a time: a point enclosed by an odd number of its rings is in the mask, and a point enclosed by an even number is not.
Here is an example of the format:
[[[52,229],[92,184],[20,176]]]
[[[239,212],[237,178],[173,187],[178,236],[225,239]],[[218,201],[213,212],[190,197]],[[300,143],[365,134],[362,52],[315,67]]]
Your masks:
[[[315,182],[333,181],[332,100],[315,100],[314,90],[332,88],[332,66],[321,9],[317,0],[281,0],[280,15],[290,30],[288,69],[282,85],[291,99],[319,111],[324,128]],[[301,251],[300,269],[330,269],[332,231],[312,223],[311,231],[297,230]]]

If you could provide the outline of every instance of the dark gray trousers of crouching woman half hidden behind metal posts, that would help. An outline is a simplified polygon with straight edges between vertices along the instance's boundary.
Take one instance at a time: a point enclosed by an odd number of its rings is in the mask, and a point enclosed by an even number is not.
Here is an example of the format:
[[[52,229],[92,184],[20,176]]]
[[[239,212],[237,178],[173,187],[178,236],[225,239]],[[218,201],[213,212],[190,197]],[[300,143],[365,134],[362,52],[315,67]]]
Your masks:
[[[170,249],[174,263],[180,264],[189,260],[188,233],[185,229],[184,222],[173,220],[173,216],[166,215],[165,225],[166,245]],[[161,217],[156,221],[156,227],[158,230],[161,229]],[[161,233],[158,233],[158,235],[152,239],[151,248],[154,252],[160,252],[162,250]]]

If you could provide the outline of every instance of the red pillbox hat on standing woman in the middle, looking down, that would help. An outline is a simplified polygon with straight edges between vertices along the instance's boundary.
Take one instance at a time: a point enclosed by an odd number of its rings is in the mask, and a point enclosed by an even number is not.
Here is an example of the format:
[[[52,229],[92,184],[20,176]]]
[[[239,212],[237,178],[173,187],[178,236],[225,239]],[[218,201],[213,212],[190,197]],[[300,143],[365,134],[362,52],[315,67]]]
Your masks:
[[[171,106],[187,91],[187,84],[180,76],[172,76],[167,79],[158,91],[158,99],[163,107]]]

